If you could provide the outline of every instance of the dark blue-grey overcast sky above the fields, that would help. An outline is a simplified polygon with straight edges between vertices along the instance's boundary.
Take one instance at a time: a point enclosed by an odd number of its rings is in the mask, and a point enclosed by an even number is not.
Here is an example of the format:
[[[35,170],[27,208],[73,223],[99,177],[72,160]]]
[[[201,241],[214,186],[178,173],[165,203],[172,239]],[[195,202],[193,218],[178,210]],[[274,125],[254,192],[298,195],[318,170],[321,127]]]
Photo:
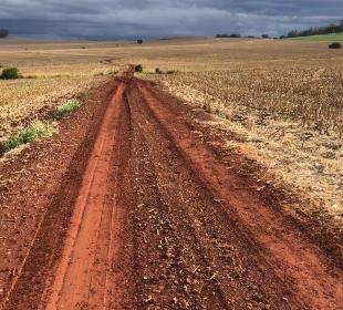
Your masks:
[[[341,19],[343,0],[0,0],[0,28],[39,38],[280,35]]]

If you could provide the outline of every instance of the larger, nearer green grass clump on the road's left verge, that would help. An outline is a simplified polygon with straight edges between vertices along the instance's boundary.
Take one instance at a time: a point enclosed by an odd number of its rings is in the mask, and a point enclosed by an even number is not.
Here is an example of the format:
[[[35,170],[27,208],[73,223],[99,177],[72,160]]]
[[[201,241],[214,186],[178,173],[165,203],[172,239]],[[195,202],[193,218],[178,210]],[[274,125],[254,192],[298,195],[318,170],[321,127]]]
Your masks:
[[[6,141],[0,147],[0,155],[2,156],[22,144],[28,144],[40,137],[52,135],[54,131],[55,128],[53,125],[37,121],[29,127],[10,136],[9,140]]]

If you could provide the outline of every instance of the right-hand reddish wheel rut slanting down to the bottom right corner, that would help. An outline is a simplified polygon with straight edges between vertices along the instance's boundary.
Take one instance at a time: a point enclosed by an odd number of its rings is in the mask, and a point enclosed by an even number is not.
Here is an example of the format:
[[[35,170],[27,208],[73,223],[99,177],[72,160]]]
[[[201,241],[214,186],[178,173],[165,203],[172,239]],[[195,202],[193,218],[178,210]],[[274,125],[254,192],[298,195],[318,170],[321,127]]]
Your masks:
[[[336,309],[343,296],[342,272],[329,271],[328,258],[285,218],[276,214],[256,193],[246,189],[245,180],[228,173],[207,147],[177,120],[166,102],[158,100],[144,83],[139,90],[150,111],[173,138],[186,161],[211,193],[222,202],[229,214],[236,214],[240,225],[263,249],[263,257],[280,279],[293,282],[293,292],[303,307]],[[331,269],[331,268],[330,268]],[[315,296],[312,292],[315,291]]]

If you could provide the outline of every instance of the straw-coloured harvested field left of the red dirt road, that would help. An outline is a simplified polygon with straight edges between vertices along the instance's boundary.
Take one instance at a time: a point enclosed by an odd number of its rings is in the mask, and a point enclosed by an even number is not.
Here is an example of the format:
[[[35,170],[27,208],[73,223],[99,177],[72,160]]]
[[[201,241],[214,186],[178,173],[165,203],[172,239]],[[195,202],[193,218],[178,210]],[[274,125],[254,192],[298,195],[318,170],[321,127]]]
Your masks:
[[[74,101],[104,81],[104,76],[51,76],[0,81],[0,143],[28,123],[43,120],[61,103]],[[62,112],[71,106],[67,104]]]

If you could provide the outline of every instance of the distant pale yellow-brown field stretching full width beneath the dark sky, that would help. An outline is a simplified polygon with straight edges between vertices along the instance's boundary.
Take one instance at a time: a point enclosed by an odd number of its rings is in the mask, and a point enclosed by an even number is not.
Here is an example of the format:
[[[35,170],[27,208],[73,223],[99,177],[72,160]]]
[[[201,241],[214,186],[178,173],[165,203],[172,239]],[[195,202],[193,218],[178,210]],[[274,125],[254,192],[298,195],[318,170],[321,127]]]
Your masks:
[[[232,65],[268,62],[325,64],[342,60],[340,51],[329,51],[325,42],[272,40],[189,39],[146,42],[40,42],[0,41],[0,63],[22,69],[25,74],[63,72],[72,65],[79,74],[142,63],[146,70],[207,71],[226,70]],[[84,66],[80,66],[80,64]],[[63,69],[64,68],[64,69]],[[90,72],[91,70],[91,72]]]

